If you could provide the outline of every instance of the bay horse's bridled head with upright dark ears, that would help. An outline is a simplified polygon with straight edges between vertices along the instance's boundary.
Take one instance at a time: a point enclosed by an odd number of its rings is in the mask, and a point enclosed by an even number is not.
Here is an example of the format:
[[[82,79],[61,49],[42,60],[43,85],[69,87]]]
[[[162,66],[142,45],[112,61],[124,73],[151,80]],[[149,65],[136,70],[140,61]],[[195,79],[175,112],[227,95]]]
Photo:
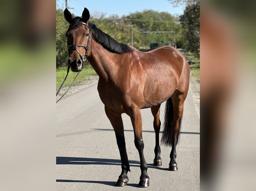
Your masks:
[[[68,9],[64,11],[65,19],[70,26],[66,33],[69,51],[69,65],[73,72],[79,72],[84,67],[86,57],[90,56],[90,41],[92,39],[89,28],[90,13],[87,8],[84,9],[82,18],[73,17]]]

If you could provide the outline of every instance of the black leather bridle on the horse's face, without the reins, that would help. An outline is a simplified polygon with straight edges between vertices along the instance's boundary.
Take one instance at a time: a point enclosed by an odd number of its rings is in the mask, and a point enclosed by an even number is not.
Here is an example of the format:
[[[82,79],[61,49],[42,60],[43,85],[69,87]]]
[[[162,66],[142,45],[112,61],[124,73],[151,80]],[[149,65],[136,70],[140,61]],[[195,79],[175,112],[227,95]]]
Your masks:
[[[84,45],[69,45],[69,46],[68,46],[68,52],[69,52],[69,58],[70,58],[71,52],[72,52],[73,50],[75,50],[75,51],[78,52],[78,54],[79,54],[79,56],[80,56],[80,58],[81,58],[81,60],[82,60],[82,69],[83,69],[84,66],[85,66],[85,60],[86,60],[86,57],[87,57],[87,54],[88,54],[88,51],[89,51],[90,40],[92,40],[92,34],[91,34],[91,29],[89,28],[89,26],[88,26],[86,23],[80,22],[80,24],[87,26],[88,29],[89,29],[89,36],[88,36],[87,45],[86,45],[86,46],[84,46]],[[72,25],[72,24],[70,24],[70,25]],[[82,55],[82,54],[78,51],[77,47],[84,47],[84,48],[85,48],[85,54]],[[70,50],[70,48],[71,48],[71,50]]]

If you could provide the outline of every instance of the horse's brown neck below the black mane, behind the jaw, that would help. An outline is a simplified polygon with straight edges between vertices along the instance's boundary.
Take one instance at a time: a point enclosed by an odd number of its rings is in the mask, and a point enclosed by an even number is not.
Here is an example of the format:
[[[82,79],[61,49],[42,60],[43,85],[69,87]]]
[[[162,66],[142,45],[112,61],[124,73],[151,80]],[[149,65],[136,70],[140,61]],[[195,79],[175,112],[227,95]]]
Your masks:
[[[91,54],[87,58],[100,79],[104,82],[113,80],[119,69],[119,55],[111,53],[93,40]]]

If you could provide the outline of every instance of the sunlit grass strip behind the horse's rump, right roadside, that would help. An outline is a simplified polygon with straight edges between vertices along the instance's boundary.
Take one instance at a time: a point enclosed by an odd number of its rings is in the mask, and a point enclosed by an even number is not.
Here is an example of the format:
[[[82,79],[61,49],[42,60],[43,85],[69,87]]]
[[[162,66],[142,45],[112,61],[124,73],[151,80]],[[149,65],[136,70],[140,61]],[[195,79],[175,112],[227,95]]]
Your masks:
[[[188,52],[184,54],[190,67],[190,76],[200,83],[200,59]]]

